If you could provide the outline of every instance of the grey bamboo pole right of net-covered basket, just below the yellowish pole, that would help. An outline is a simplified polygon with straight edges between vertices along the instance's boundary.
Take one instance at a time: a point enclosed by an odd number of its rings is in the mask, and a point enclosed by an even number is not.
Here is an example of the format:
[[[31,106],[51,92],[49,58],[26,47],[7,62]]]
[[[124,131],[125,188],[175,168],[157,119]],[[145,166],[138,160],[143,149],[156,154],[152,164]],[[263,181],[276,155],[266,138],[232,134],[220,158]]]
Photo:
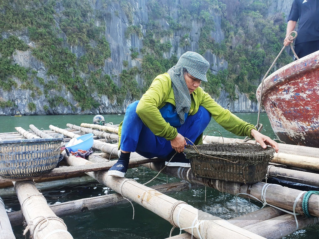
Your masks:
[[[290,182],[319,187],[319,175],[317,173],[309,173],[304,171],[284,169],[284,168],[275,167],[273,165],[269,165],[268,175],[277,177],[279,179],[287,180]]]

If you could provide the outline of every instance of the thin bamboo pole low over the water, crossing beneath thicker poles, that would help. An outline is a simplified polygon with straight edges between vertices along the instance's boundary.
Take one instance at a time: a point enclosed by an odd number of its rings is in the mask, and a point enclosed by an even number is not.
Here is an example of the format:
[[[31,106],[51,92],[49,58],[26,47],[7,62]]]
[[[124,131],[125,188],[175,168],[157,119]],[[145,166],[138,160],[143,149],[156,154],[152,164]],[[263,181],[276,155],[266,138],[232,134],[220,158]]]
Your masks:
[[[93,179],[93,178],[92,178]],[[94,179],[93,179],[94,180]],[[197,185],[192,185],[197,187]],[[173,192],[181,192],[189,190],[188,183],[176,182],[162,185],[156,185],[150,187],[161,193],[168,194]],[[111,207],[118,204],[128,203],[128,200],[124,199],[120,194],[113,193],[98,197],[78,199],[70,202],[64,202],[54,205],[49,205],[52,211],[59,217],[70,215],[73,213],[85,212],[87,210],[100,209],[105,207]],[[8,213],[8,216],[12,226],[21,225],[23,218],[21,211]],[[1,238],[1,237],[0,237]]]

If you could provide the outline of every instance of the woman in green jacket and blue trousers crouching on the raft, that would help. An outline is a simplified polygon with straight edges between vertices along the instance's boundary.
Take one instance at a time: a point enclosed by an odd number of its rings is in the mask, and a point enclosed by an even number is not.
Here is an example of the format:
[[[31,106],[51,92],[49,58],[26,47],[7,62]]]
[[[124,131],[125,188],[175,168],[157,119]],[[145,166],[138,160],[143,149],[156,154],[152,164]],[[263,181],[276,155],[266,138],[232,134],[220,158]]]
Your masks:
[[[119,126],[121,155],[108,175],[124,177],[130,152],[146,158],[165,158],[178,152],[167,166],[190,167],[183,151],[185,137],[197,144],[204,129],[216,120],[226,130],[255,138],[263,148],[271,145],[278,152],[278,143],[259,133],[229,110],[217,104],[199,85],[207,82],[209,63],[195,52],[182,54],[167,73],[157,76],[142,98],[130,104]]]

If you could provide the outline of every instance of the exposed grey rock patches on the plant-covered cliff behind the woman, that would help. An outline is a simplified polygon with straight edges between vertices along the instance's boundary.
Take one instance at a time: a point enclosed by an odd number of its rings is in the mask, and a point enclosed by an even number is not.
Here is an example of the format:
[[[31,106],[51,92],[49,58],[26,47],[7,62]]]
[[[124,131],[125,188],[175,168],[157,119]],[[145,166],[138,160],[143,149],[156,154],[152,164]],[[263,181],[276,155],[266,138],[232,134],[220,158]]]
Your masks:
[[[128,0],[133,8],[134,8],[134,17],[133,22],[129,23],[129,20],[123,11],[120,3],[117,1],[108,4],[107,10],[110,12],[108,15],[108,19],[106,20],[106,31],[105,37],[109,42],[109,47],[111,50],[111,57],[105,61],[103,71],[105,74],[112,75],[112,80],[115,81],[117,85],[119,82],[119,75],[123,69],[130,69],[132,67],[137,66],[141,69],[141,59],[137,57],[136,59],[131,59],[131,48],[141,49],[143,47],[143,39],[139,38],[137,34],[131,34],[128,38],[125,37],[125,32],[129,25],[137,25],[142,27],[142,33],[145,34],[145,25],[149,21],[148,17],[148,5],[147,0]],[[175,1],[170,6],[170,12],[176,12],[176,15],[173,18],[178,18],[178,4],[185,4],[187,0]],[[275,1],[276,2],[276,1]],[[284,11],[287,14],[287,11],[290,10],[292,0],[279,0],[277,4],[274,4],[274,8],[280,11]],[[93,9],[102,9],[103,1],[92,0],[90,1],[90,5]],[[63,11],[63,7],[61,4],[57,4],[56,12]],[[221,17],[217,14],[214,16],[215,22],[215,30],[211,33],[211,37],[220,42],[224,39],[223,32],[221,30]],[[99,25],[99,21],[95,21],[96,25]],[[183,30],[175,31],[173,36],[166,37],[164,40],[169,41],[173,47],[167,52],[163,54],[165,58],[170,58],[172,55],[176,55],[180,57],[186,51],[198,51],[198,40],[199,40],[199,31],[202,27],[201,22],[192,21],[191,22],[191,30],[189,33],[189,46],[179,47],[179,43],[181,41],[182,36],[184,36]],[[59,27],[58,23],[56,23],[57,27]],[[169,27],[168,23],[165,20],[161,21],[161,25],[165,27]],[[2,37],[8,38],[13,33],[3,32]],[[36,47],[34,42],[30,41],[26,32],[16,33],[20,40],[23,40],[30,47]],[[66,42],[66,36],[62,32],[60,33],[61,38],[64,40],[64,46],[69,48],[72,53],[76,54],[77,57],[80,57],[84,54],[83,46],[70,46]],[[48,83],[49,81],[53,81],[55,84],[59,84],[57,81],[57,77],[54,75],[48,75],[48,69],[45,67],[44,63],[37,60],[32,56],[31,51],[18,51],[16,50],[13,53],[13,62],[15,64],[19,64],[25,68],[30,68],[38,71],[38,77],[44,79],[44,83]],[[211,65],[211,72],[216,74],[220,70],[227,69],[227,62],[224,59],[220,59],[215,54],[211,52],[206,52],[204,54],[205,59]],[[128,66],[123,66],[123,61],[128,61]],[[92,67],[93,68],[93,67]],[[89,67],[90,69],[90,67]],[[83,74],[82,77],[85,79],[87,75]],[[21,112],[24,115],[44,115],[44,114],[115,114],[115,113],[124,113],[126,107],[135,100],[131,98],[130,95],[126,97],[121,105],[116,103],[116,100],[110,100],[105,95],[99,95],[97,92],[93,93],[91,96],[100,103],[98,108],[94,108],[91,110],[82,110],[81,107],[78,106],[78,102],[74,100],[73,95],[66,89],[65,86],[61,85],[61,89],[59,90],[49,90],[49,96],[61,96],[65,100],[67,100],[70,105],[64,106],[60,103],[56,107],[49,108],[47,110],[44,109],[45,106],[49,105],[48,98],[44,95],[32,97],[31,90],[21,90],[19,86],[21,85],[20,80],[17,77],[12,77],[12,79],[18,84],[15,88],[12,86],[11,91],[4,91],[0,89],[0,101],[12,101],[15,103],[13,107],[0,107],[0,115],[13,115],[16,111]],[[144,83],[144,79],[142,76],[137,74],[135,78],[139,85]],[[38,82],[38,80],[34,80],[34,85],[39,87],[41,91],[44,91],[44,85]],[[90,87],[88,83],[86,83],[86,87]],[[228,93],[221,90],[220,97],[215,99],[220,105],[224,108],[229,109],[232,112],[257,112],[258,105],[256,102],[251,102],[246,94],[243,94],[236,91],[238,94],[238,99],[235,101],[231,101],[227,98]],[[30,110],[28,104],[33,102],[36,105],[36,110]]]

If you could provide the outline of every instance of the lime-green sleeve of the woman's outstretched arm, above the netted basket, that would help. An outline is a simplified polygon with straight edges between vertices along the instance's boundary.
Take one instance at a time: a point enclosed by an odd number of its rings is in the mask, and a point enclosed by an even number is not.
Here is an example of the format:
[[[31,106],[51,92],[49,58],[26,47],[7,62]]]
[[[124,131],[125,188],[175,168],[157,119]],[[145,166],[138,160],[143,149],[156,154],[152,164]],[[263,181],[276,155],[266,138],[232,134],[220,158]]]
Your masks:
[[[202,101],[200,105],[211,113],[211,116],[219,125],[238,136],[250,137],[250,131],[256,129],[254,125],[241,120],[229,110],[221,107],[205,91],[202,92]]]

